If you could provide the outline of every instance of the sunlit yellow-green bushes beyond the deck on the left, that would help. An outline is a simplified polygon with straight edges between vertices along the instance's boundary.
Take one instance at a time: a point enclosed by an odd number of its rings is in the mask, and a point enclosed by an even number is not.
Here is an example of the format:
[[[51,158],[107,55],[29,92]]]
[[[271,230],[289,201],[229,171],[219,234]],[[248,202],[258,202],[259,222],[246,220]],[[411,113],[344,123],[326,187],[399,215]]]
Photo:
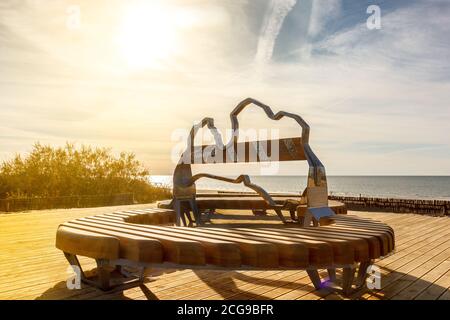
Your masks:
[[[170,197],[168,188],[151,185],[149,171],[133,153],[66,143],[35,143],[25,157],[16,155],[0,167],[0,197],[59,197],[134,193],[137,202]]]

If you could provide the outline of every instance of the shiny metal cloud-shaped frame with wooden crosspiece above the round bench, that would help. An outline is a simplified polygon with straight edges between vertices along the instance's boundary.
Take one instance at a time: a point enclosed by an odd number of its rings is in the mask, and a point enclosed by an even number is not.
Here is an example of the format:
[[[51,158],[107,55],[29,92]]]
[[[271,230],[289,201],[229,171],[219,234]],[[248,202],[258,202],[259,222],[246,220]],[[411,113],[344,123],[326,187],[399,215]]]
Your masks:
[[[229,183],[243,183],[246,187],[252,189],[259,194],[264,201],[266,201],[270,207],[275,210],[278,217],[287,222],[284,218],[281,210],[285,208],[289,203],[276,204],[271,195],[265,191],[262,187],[253,184],[248,175],[240,175],[236,179],[230,179],[226,177],[220,177],[211,174],[197,174],[192,175],[192,164],[211,164],[220,163],[220,158],[224,158],[227,162],[262,162],[271,161],[267,156],[261,155],[260,146],[261,141],[254,142],[238,142],[239,137],[239,121],[238,115],[249,105],[256,105],[260,107],[267,117],[271,120],[280,120],[282,118],[291,118],[295,120],[301,127],[300,138],[288,138],[279,140],[264,141],[265,145],[279,146],[279,154],[277,161],[298,161],[306,160],[309,165],[307,187],[303,192],[303,201],[307,205],[307,212],[303,219],[305,225],[309,225],[311,221],[317,222],[322,217],[334,215],[333,211],[328,207],[328,189],[327,180],[325,174],[325,167],[317,158],[309,146],[309,125],[299,115],[279,111],[276,114],[272,109],[252,98],[247,98],[240,102],[236,108],[231,112],[231,126],[232,126],[232,138],[227,144],[223,143],[222,137],[214,126],[214,119],[204,118],[199,124],[194,125],[190,131],[190,135],[187,142],[187,148],[181,155],[181,158],[175,168],[173,174],[173,201],[172,205],[177,213],[177,225],[193,226],[194,220],[190,213],[194,215],[195,223],[201,225],[200,212],[196,204],[196,187],[195,182],[201,178],[209,178]],[[195,146],[194,140],[198,131],[207,127],[212,133],[215,141],[213,146]],[[243,156],[239,156],[238,150],[250,150],[251,148],[256,150],[256,157],[251,158],[249,153],[245,153]],[[187,222],[187,220],[189,222]]]

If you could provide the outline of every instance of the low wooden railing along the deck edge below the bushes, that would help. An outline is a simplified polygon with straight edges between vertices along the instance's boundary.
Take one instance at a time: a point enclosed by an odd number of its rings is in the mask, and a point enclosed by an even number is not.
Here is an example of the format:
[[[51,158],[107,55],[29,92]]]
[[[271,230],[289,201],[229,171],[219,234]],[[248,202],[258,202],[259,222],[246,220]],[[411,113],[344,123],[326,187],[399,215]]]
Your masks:
[[[33,197],[22,199],[1,199],[0,211],[17,212],[43,209],[88,208],[116,206],[135,203],[133,193],[90,196]]]

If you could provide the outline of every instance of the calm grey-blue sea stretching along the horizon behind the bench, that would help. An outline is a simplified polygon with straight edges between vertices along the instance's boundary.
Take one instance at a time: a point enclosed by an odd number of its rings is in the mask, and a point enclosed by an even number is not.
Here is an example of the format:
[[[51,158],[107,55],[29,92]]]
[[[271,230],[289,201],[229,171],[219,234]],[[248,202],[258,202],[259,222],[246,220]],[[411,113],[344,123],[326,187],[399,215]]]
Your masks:
[[[306,176],[253,176],[269,192],[302,192]],[[332,195],[450,200],[450,176],[329,176]],[[172,176],[151,176],[150,181],[172,186]],[[202,179],[197,189],[248,191],[242,185]]]

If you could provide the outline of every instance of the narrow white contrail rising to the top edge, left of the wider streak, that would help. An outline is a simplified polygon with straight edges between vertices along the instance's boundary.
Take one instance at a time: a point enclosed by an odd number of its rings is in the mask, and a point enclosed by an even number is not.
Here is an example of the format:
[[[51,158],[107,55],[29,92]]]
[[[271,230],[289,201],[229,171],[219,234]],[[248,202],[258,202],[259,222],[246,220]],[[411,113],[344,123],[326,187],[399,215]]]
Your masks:
[[[263,65],[272,59],[275,41],[280,33],[283,21],[296,3],[297,0],[270,1],[256,50],[255,62],[257,65]]]

